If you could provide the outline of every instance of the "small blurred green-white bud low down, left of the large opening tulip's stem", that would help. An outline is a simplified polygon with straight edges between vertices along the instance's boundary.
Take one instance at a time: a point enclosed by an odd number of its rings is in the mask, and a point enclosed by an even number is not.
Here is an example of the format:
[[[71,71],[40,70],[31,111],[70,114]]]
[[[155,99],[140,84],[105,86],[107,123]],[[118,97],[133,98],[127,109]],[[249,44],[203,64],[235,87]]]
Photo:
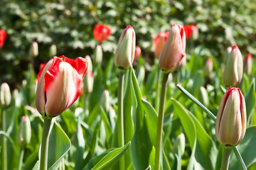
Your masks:
[[[31,141],[31,122],[28,115],[23,115],[22,117],[16,140],[21,147],[26,147]]]

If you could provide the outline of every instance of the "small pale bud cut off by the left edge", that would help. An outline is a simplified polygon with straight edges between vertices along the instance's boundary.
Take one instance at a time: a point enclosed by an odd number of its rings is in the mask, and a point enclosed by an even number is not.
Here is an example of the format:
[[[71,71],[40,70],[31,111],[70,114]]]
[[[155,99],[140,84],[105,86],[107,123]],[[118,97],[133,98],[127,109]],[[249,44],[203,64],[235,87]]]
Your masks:
[[[7,83],[1,84],[1,91],[0,91],[0,106],[7,107],[11,104],[11,91],[10,87]]]

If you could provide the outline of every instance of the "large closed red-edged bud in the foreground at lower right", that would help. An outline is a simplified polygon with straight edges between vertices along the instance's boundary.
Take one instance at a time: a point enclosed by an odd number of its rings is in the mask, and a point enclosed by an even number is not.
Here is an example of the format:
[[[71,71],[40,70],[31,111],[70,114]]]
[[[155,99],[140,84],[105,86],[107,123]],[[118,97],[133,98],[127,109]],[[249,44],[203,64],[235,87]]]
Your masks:
[[[239,88],[230,87],[218,108],[215,123],[216,137],[224,147],[235,147],[245,136],[245,130],[245,98]]]

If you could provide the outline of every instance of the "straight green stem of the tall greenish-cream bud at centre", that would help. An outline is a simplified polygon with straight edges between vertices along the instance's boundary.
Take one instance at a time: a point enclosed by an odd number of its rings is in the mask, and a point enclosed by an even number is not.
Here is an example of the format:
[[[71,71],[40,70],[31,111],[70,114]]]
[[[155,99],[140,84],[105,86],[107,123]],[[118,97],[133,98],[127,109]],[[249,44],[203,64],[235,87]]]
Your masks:
[[[124,74],[125,72],[120,70],[119,72],[119,84],[118,84],[118,113],[117,113],[117,133],[118,133],[118,147],[124,146]],[[119,169],[125,169],[124,157],[121,157],[119,161]]]

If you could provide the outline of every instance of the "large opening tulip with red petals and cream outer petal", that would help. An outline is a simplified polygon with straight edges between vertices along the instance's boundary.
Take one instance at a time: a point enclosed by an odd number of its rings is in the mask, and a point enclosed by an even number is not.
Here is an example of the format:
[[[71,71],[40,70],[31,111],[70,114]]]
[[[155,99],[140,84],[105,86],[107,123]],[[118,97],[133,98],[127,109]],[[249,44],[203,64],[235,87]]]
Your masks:
[[[43,117],[55,117],[69,108],[82,92],[87,60],[53,57],[38,73],[36,108]]]

